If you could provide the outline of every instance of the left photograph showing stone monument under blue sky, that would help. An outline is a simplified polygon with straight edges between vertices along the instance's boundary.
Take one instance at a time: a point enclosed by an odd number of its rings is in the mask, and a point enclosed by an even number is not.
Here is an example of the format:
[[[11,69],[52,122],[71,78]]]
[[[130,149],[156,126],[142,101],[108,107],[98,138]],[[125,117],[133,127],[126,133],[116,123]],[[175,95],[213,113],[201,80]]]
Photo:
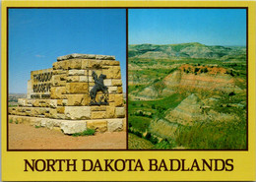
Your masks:
[[[8,9],[8,151],[126,150],[126,10]]]

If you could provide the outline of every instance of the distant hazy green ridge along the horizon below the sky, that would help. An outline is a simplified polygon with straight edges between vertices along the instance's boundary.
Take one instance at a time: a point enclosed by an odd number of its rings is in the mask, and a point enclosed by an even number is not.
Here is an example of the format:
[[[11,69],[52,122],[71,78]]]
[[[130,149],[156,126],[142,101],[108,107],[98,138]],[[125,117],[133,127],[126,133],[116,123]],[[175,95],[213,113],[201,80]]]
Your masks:
[[[229,55],[245,55],[245,46],[205,45],[199,42],[179,44],[130,44],[128,57],[171,59],[207,58],[221,59]]]

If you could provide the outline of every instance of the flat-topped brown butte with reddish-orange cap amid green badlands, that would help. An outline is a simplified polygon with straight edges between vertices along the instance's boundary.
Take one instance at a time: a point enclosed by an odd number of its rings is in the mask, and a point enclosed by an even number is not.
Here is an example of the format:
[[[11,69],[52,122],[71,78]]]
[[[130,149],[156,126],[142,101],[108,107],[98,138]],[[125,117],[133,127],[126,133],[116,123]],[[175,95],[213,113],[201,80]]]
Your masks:
[[[210,91],[234,91],[241,89],[228,71],[220,67],[182,65],[179,69],[163,79],[167,88],[204,89]]]

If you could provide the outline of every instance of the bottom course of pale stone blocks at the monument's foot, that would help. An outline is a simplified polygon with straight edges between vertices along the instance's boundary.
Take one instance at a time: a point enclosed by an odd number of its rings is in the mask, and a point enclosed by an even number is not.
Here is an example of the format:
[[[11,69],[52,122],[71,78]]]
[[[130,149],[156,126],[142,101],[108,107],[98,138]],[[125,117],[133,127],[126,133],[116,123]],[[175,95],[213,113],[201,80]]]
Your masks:
[[[58,130],[64,134],[80,133],[87,129],[95,129],[96,132],[119,132],[126,127],[125,118],[93,119],[93,120],[62,120],[51,118],[39,118],[30,116],[9,115],[9,122],[24,123],[36,127],[45,127],[50,130]]]

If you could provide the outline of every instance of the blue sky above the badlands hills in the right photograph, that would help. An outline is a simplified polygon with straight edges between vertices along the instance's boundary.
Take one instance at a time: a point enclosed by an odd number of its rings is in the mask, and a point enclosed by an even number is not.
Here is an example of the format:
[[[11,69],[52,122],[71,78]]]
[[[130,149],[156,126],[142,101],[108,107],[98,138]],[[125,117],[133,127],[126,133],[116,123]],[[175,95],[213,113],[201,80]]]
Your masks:
[[[245,9],[131,9],[129,44],[246,45]]]

